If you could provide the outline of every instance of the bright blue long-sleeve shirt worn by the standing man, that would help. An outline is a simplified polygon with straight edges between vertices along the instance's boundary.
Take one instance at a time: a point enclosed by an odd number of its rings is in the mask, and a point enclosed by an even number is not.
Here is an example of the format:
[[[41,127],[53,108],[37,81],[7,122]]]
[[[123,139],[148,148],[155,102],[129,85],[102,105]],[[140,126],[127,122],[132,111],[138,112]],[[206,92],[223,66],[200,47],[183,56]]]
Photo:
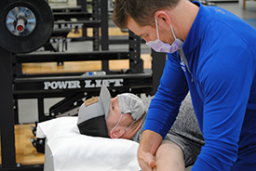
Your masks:
[[[191,92],[205,146],[192,170],[256,170],[256,31],[220,7],[203,7],[182,46],[168,54],[144,130],[163,138]],[[193,79],[192,79],[193,78]]]

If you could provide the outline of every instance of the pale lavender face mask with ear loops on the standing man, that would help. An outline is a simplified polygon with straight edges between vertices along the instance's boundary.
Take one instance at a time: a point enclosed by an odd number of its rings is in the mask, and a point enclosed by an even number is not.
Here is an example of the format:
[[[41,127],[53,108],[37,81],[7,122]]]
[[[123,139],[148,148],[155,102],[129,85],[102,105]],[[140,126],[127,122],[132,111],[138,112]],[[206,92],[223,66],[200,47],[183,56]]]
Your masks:
[[[183,42],[180,39],[177,39],[171,24],[169,24],[171,32],[173,34],[173,37],[175,38],[174,42],[171,44],[171,46],[167,43],[162,42],[159,39],[159,33],[158,33],[158,25],[157,25],[157,20],[155,18],[155,27],[156,27],[156,34],[157,34],[157,39],[155,41],[150,41],[146,43],[147,46],[150,46],[155,50],[155,52],[166,52],[166,53],[173,53],[182,48]]]

